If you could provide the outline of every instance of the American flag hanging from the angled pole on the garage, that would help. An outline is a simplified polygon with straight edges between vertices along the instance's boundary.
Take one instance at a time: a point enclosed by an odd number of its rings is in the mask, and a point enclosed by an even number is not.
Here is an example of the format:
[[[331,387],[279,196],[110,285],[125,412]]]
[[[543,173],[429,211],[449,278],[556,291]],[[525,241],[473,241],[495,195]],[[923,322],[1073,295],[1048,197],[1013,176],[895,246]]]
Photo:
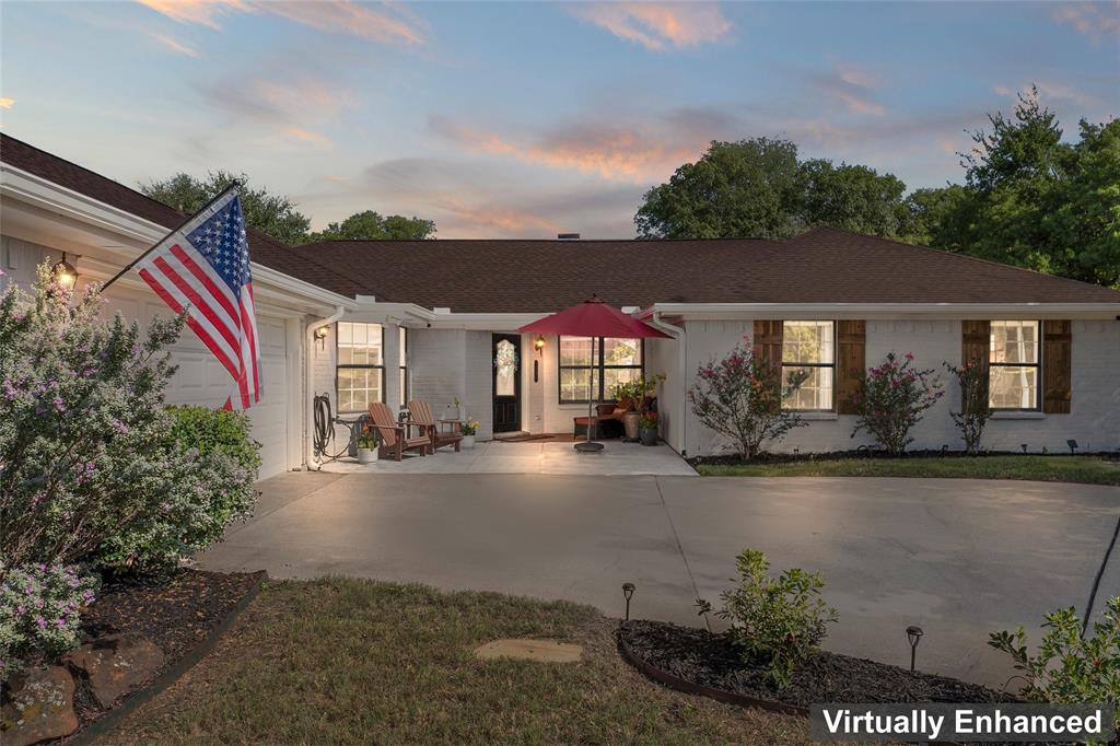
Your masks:
[[[260,349],[245,217],[236,188],[207,205],[137,263],[143,278],[233,379],[226,409],[261,399]]]

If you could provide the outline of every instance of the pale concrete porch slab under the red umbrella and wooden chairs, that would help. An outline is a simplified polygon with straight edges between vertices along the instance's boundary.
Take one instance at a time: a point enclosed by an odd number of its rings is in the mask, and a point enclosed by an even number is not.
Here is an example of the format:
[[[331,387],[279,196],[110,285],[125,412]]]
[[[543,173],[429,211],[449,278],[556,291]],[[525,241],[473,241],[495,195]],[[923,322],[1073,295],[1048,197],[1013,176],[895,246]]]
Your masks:
[[[323,465],[327,473],[366,474],[554,474],[584,476],[696,476],[676,453],[660,444],[642,446],[622,440],[600,441],[597,454],[580,454],[571,441],[488,440],[455,453],[441,448],[433,456],[405,456],[401,461],[381,459],[362,465],[343,458]]]

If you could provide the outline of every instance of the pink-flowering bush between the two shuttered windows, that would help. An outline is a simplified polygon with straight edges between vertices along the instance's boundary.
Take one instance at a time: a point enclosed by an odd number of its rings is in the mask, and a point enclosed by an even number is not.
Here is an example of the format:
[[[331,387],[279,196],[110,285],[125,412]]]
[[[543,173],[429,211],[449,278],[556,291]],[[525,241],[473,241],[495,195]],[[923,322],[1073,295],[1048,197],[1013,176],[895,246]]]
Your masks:
[[[911,429],[944,393],[933,370],[914,365],[913,353],[887,353],[883,363],[868,369],[850,399],[859,418],[851,437],[864,430],[887,453],[900,456],[914,442]]]

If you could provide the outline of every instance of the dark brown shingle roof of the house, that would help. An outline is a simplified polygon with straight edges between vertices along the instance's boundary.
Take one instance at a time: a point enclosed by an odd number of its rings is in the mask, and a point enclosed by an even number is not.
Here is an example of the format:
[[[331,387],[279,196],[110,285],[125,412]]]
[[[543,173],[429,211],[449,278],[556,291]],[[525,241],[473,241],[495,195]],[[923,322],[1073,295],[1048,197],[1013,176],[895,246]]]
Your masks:
[[[0,160],[174,227],[167,205],[0,134]],[[344,296],[460,313],[549,313],[592,292],[654,302],[1117,302],[1120,292],[834,229],[788,241],[327,241],[250,231],[253,261]]]

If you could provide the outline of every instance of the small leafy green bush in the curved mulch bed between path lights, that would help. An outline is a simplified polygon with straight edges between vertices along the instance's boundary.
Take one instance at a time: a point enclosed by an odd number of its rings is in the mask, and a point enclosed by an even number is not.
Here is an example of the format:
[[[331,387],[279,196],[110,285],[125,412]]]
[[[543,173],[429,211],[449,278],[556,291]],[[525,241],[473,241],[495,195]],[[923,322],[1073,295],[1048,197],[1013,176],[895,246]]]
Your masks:
[[[801,568],[785,570],[776,578],[767,575],[769,561],[757,549],[745,549],[735,559],[737,585],[720,594],[724,608],[716,616],[731,622],[728,635],[743,651],[744,661],[763,665],[766,677],[780,689],[815,655],[837,621],[837,610],[820,597],[824,577]],[[701,614],[711,604],[697,599]]]

